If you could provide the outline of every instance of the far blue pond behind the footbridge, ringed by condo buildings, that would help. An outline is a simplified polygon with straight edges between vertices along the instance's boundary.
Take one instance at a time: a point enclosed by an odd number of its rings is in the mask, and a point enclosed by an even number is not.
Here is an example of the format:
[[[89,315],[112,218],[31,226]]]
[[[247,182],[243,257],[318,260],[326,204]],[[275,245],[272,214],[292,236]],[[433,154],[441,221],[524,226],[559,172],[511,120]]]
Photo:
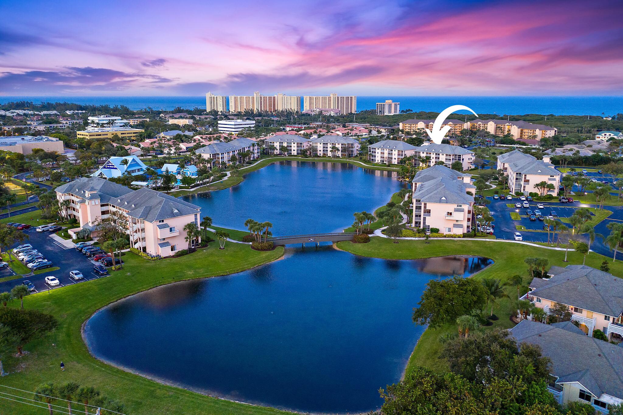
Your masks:
[[[389,202],[404,184],[396,172],[351,164],[282,161],[249,172],[229,189],[183,197],[201,207],[215,226],[244,230],[252,218],[273,224],[275,236],[342,231],[353,213]]]

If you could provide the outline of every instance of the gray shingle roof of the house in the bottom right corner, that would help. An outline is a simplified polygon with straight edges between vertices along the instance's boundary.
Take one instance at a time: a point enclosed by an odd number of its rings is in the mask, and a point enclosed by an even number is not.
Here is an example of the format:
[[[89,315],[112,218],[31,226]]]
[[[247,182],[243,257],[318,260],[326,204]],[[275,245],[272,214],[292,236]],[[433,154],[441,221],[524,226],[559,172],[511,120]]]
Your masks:
[[[578,330],[522,320],[510,332],[518,343],[541,347],[552,361],[557,383],[579,382],[597,398],[606,393],[623,399],[623,348]]]

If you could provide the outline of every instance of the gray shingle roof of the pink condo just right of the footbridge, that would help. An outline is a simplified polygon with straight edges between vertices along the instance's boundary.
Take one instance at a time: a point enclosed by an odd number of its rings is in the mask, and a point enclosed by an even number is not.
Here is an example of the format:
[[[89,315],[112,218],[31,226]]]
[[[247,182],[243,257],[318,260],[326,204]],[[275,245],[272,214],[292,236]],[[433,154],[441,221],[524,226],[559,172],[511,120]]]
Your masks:
[[[418,183],[413,198],[427,203],[473,203],[473,196],[467,191],[473,191],[474,187],[459,179],[464,176],[445,166],[420,170],[412,180]]]

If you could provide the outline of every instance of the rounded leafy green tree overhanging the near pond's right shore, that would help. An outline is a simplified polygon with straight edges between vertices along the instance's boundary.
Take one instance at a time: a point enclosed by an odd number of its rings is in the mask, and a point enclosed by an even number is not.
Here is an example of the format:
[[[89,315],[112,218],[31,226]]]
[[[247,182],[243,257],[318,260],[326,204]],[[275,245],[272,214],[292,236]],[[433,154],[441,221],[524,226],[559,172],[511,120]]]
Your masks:
[[[426,284],[418,307],[413,309],[413,321],[439,327],[471,314],[472,310],[482,310],[487,301],[487,290],[476,279],[454,276],[431,280]]]

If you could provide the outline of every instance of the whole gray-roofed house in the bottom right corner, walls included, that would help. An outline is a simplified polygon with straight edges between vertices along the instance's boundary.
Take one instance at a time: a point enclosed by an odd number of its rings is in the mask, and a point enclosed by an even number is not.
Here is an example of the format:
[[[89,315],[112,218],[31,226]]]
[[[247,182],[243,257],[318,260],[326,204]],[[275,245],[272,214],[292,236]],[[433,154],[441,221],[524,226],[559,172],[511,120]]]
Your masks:
[[[589,337],[572,322],[521,320],[509,331],[551,360],[547,388],[559,404],[589,404],[600,414],[623,404],[623,347]]]

